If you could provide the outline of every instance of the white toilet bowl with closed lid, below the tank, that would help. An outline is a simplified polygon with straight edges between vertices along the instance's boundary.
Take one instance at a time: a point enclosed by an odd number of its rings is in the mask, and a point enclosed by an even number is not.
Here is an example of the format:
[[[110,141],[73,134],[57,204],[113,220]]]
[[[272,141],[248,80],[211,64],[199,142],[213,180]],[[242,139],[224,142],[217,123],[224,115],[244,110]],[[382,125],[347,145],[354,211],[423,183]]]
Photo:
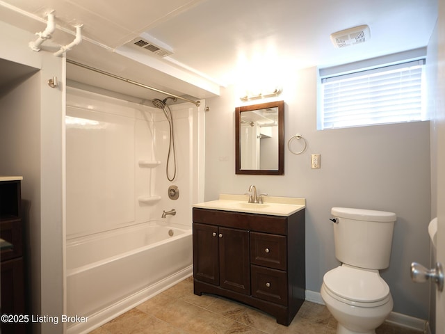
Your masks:
[[[378,271],[346,264],[325,274],[321,297],[338,321],[337,334],[375,334],[394,305]]]

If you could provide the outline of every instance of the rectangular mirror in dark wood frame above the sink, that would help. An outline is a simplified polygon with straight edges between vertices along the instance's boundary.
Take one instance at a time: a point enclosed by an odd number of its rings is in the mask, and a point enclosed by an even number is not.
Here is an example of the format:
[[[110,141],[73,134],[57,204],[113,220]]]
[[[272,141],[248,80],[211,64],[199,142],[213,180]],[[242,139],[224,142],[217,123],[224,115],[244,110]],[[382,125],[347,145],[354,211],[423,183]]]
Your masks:
[[[235,109],[236,174],[284,175],[284,101]]]

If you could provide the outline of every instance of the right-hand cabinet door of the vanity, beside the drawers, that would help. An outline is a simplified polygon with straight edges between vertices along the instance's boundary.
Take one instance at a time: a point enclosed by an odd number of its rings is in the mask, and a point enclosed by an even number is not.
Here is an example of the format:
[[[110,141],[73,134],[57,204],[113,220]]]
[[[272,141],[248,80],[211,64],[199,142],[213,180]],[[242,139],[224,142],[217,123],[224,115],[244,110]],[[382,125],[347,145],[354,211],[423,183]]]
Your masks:
[[[220,287],[250,294],[249,232],[219,228]]]

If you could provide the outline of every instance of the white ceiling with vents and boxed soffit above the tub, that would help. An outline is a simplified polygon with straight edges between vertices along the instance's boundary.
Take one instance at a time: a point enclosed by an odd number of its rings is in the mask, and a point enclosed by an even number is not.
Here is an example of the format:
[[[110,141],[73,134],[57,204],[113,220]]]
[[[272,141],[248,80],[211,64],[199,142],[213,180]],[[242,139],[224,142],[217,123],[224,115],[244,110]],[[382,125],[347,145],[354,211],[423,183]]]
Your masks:
[[[437,0],[0,0],[0,20],[37,33],[54,10],[57,29],[43,51],[83,41],[67,58],[169,93],[219,95],[243,77],[286,75],[425,47]],[[363,44],[337,49],[336,31],[369,25]],[[127,43],[144,38],[172,51],[161,57]],[[159,93],[69,64],[67,77],[153,98]]]

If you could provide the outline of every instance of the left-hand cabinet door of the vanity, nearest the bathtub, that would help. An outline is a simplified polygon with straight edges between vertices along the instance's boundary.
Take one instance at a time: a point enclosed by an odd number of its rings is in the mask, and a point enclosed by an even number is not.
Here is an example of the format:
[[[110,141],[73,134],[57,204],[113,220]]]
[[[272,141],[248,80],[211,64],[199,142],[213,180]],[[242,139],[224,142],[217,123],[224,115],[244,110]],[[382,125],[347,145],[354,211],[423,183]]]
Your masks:
[[[220,284],[218,227],[193,223],[193,277]]]

